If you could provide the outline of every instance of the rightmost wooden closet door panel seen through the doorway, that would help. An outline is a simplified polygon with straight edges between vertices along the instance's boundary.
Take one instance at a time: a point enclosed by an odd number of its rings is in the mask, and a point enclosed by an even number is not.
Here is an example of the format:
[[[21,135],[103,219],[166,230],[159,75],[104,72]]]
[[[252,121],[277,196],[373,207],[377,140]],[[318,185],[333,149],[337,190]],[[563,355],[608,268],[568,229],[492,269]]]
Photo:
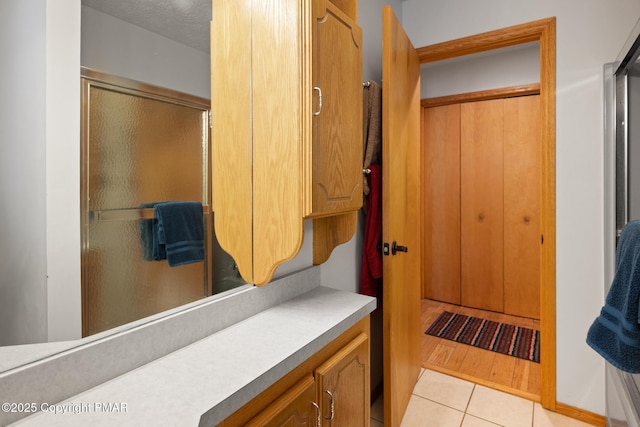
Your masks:
[[[540,97],[505,100],[504,312],[540,318]]]

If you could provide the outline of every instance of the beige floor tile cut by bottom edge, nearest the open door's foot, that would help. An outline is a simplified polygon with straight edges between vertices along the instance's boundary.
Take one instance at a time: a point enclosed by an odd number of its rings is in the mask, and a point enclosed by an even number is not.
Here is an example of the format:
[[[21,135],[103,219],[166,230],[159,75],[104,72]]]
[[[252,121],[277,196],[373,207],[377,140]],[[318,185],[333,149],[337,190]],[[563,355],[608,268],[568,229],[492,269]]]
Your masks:
[[[464,413],[416,395],[411,396],[401,427],[459,427]]]

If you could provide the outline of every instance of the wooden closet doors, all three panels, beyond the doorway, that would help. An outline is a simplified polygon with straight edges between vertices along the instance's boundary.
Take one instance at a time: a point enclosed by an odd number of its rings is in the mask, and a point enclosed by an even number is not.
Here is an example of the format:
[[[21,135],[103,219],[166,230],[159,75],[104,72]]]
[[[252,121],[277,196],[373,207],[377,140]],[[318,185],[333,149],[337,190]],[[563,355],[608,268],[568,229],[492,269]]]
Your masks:
[[[425,109],[425,297],[539,318],[539,114],[538,96]]]

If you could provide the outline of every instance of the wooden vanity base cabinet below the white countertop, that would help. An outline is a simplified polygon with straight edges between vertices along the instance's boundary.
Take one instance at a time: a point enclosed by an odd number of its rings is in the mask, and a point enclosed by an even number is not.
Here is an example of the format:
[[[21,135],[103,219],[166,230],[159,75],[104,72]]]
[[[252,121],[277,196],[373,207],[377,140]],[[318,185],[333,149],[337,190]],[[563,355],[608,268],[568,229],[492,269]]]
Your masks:
[[[219,424],[368,426],[369,317]]]

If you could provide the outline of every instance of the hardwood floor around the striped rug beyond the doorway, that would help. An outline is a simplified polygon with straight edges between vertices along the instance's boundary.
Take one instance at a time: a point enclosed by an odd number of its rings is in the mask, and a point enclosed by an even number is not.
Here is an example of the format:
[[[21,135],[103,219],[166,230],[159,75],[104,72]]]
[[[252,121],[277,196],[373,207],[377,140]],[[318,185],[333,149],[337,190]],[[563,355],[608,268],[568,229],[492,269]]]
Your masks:
[[[423,299],[422,330],[426,331],[440,313],[445,310],[516,326],[540,329],[539,320]],[[422,366],[424,368],[512,393],[536,402],[540,401],[539,363],[482,350],[427,334],[422,335],[421,352]]]

